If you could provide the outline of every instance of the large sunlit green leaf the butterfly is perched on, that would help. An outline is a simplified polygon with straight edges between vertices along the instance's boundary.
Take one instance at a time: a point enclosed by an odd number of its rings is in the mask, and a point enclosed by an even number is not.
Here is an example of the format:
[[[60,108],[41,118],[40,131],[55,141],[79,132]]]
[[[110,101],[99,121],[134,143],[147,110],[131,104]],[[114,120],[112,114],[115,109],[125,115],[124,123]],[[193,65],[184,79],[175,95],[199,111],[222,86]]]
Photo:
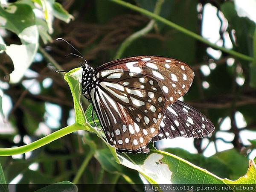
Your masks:
[[[74,73],[74,74],[73,74]],[[76,68],[65,75],[65,79],[68,81],[73,99],[75,103],[76,116],[84,116],[81,109],[80,95],[81,87],[79,87],[79,78],[72,78],[72,76],[81,78],[81,68]],[[73,79],[72,81],[70,81]],[[77,100],[79,99],[79,100]],[[91,114],[90,114],[91,116]],[[89,117],[90,117],[89,116]],[[79,119],[79,118],[76,118]],[[87,125],[89,125],[87,123]],[[93,132],[96,133],[96,129],[92,128]],[[96,133],[97,134],[97,133]],[[97,134],[106,143],[104,137]],[[150,153],[144,154],[129,154],[129,153],[118,153],[112,146],[106,143],[108,148],[111,149],[111,154],[114,155],[116,162],[122,164],[131,169],[137,170],[143,175],[148,182],[152,184],[159,183],[177,183],[177,184],[223,184],[232,182],[228,179],[221,179],[202,169],[198,166],[183,160],[173,154],[169,154],[164,151],[155,149],[152,145],[150,146]],[[255,164],[253,164],[255,166]],[[251,169],[251,168],[250,168]],[[245,177],[244,177],[245,179]],[[248,175],[248,182],[252,180],[256,183],[255,179]],[[245,182],[245,181],[244,181]]]

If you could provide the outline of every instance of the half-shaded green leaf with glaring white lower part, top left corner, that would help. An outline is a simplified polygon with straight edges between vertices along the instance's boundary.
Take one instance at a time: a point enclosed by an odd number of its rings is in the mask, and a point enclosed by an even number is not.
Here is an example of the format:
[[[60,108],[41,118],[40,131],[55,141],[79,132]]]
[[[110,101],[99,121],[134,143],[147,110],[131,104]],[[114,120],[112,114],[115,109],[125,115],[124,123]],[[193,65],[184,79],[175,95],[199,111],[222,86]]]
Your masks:
[[[6,9],[0,7],[0,26],[17,34],[22,43],[6,46],[5,50],[15,68],[10,74],[10,82],[17,83],[32,64],[38,49],[39,35],[35,24],[35,14],[27,4],[10,3]],[[0,43],[4,44],[2,38],[0,38]]]

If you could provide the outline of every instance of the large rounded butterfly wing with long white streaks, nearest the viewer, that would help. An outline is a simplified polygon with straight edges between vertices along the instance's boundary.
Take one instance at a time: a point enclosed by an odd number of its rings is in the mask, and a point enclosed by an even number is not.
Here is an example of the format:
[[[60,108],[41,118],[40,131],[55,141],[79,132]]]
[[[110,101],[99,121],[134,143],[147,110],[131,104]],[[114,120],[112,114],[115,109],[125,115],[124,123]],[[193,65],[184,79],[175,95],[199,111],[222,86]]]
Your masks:
[[[139,73],[102,70],[90,92],[108,142],[119,150],[147,151],[158,134],[165,98],[157,81]]]

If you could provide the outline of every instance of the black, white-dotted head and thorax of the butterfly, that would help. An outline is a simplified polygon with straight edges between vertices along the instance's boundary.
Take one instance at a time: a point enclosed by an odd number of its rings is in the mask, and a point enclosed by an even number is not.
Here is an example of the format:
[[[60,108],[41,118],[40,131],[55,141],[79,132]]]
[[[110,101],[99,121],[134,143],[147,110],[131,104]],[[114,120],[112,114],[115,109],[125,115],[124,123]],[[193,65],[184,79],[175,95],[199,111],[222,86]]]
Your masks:
[[[96,77],[94,75],[94,69],[93,67],[90,67],[88,64],[81,64],[81,67],[83,69],[82,73],[82,93],[84,97],[87,99],[90,99],[90,91],[93,89],[93,87],[96,87],[96,84],[99,82],[96,81]]]

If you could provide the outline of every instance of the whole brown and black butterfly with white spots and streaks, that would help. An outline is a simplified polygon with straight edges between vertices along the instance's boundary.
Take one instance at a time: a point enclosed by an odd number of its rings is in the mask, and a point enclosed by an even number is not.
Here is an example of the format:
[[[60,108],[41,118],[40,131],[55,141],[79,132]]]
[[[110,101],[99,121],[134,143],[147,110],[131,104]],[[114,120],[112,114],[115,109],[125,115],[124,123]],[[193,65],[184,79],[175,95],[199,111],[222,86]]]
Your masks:
[[[82,94],[91,101],[108,143],[119,152],[148,153],[151,141],[202,138],[214,131],[206,116],[177,100],[194,78],[182,61],[144,55],[93,69],[84,59],[81,68]]]

